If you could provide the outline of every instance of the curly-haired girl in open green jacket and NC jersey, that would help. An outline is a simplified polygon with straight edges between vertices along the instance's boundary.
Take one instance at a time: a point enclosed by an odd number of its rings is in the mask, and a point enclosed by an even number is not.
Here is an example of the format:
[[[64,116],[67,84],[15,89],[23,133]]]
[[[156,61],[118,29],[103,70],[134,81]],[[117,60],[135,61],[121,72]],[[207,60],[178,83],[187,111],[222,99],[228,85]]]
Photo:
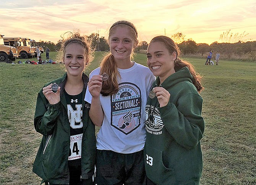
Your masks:
[[[33,172],[46,185],[93,185],[95,125],[84,101],[92,61],[90,43],[76,33],[62,46],[66,73],[38,93],[34,127],[43,135]]]

